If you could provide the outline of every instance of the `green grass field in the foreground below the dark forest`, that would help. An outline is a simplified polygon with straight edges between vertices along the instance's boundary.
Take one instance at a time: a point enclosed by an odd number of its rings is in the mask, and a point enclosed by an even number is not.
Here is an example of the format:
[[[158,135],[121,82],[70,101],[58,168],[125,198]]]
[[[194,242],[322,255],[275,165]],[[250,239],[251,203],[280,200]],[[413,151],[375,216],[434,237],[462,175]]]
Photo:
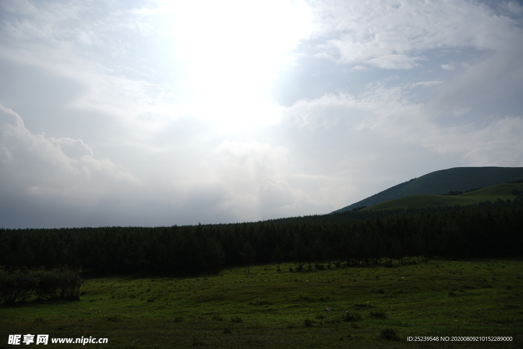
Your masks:
[[[92,348],[523,346],[521,260],[292,273],[289,266],[188,278],[87,278],[80,301],[0,307],[0,347],[19,347],[7,344],[8,335],[28,333],[108,338],[108,344],[85,345]],[[421,343],[408,336],[512,341]]]

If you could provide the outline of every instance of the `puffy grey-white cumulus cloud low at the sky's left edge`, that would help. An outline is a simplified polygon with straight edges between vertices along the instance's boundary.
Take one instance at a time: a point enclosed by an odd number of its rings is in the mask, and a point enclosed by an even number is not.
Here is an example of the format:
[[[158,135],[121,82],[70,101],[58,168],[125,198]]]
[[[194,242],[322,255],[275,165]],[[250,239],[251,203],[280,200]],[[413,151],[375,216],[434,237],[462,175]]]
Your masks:
[[[122,186],[140,181],[120,166],[94,157],[82,140],[32,134],[22,118],[0,105],[0,187],[8,197],[58,200],[89,207]]]

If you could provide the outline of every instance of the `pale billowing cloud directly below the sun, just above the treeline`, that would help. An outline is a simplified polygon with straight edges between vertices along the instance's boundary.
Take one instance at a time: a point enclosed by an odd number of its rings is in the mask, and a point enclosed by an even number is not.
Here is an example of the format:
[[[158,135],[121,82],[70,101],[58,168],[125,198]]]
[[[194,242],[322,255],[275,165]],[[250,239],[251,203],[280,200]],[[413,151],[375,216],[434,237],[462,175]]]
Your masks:
[[[214,154],[199,168],[201,178],[179,185],[193,188],[188,193],[202,184],[213,188],[210,192],[219,194],[212,210],[222,217],[259,220],[302,215],[305,207],[310,213],[329,209],[318,195],[324,192],[320,182],[325,178],[296,174],[285,147],[224,140]],[[313,186],[317,188],[311,190]]]

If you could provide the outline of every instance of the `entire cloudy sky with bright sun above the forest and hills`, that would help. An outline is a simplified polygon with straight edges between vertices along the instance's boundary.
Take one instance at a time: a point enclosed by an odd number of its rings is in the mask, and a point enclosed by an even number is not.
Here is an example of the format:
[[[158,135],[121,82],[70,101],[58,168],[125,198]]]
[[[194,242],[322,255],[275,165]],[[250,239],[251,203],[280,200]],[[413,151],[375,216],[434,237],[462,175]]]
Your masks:
[[[0,1],[0,227],[325,214],[523,166],[523,3]]]

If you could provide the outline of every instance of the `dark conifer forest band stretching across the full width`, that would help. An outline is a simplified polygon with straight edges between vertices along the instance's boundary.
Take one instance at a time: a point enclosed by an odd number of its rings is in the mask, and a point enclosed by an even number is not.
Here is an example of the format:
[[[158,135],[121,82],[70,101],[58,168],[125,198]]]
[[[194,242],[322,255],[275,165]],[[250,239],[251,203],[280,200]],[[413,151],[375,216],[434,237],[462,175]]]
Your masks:
[[[259,222],[172,227],[0,229],[3,270],[67,265],[84,274],[196,275],[293,262],[291,271],[431,256],[505,257],[523,250],[523,200],[345,211]]]

